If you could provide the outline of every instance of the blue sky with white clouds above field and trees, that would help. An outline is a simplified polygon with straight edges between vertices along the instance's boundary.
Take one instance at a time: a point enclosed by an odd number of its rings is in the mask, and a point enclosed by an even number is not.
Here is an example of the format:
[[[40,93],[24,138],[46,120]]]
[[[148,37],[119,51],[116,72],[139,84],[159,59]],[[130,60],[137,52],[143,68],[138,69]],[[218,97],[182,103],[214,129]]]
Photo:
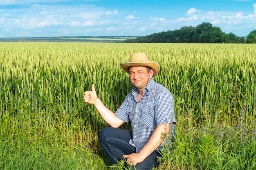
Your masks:
[[[210,22],[256,30],[256,0],[0,0],[0,38],[145,36]]]

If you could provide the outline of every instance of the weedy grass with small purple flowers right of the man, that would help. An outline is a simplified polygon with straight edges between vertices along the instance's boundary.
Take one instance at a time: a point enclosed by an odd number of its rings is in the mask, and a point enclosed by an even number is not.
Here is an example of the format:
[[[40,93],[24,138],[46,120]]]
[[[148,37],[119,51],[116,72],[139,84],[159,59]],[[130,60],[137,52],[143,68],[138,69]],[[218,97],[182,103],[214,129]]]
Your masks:
[[[195,128],[187,117],[177,125],[173,150],[162,159],[164,170],[253,170],[256,168],[255,129],[214,122]],[[184,127],[187,129],[184,130]],[[182,128],[182,129],[181,129]]]

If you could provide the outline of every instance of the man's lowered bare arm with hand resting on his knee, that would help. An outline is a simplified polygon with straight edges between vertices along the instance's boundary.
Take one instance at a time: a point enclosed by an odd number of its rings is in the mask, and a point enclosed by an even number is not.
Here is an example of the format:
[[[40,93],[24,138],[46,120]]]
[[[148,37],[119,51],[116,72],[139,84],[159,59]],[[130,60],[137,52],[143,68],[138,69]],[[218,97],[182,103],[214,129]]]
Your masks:
[[[164,141],[166,135],[169,132],[170,124],[160,124],[157,126],[152,136],[149,138],[146,145],[140,150],[139,153],[132,153],[130,155],[124,155],[123,157],[127,159],[129,165],[137,165],[141,163],[150,155],[162,142]]]

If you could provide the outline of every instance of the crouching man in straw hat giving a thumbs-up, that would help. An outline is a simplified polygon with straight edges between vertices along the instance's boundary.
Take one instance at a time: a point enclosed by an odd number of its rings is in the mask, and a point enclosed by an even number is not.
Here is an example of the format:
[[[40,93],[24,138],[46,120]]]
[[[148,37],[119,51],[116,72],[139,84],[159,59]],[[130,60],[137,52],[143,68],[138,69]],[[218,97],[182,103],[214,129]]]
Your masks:
[[[175,128],[174,101],[171,92],[153,79],[160,70],[157,62],[150,61],[145,53],[132,53],[130,62],[120,63],[130,74],[134,87],[115,113],[106,108],[92,91],[84,93],[84,101],[93,104],[101,117],[111,126],[99,133],[101,146],[110,162],[126,159],[137,170],[157,166],[157,158],[166,143],[166,136]],[[118,128],[131,122],[132,132]],[[171,129],[171,132],[169,133]]]

